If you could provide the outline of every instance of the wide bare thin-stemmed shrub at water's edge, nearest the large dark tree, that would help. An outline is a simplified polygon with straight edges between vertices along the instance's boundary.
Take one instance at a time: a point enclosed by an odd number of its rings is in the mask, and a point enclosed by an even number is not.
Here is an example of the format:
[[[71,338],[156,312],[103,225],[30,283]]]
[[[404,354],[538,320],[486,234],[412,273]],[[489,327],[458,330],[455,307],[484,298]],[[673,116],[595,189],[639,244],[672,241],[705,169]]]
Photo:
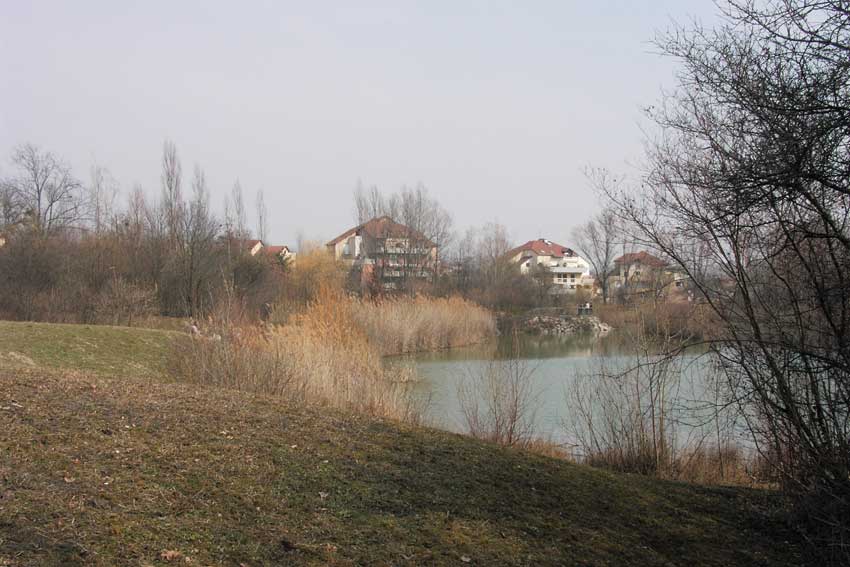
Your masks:
[[[575,458],[705,484],[767,482],[752,451],[735,440],[737,412],[723,399],[715,366],[686,363],[671,339],[647,337],[632,337],[639,354],[625,367],[600,363],[575,376],[566,392],[573,414],[565,423]]]

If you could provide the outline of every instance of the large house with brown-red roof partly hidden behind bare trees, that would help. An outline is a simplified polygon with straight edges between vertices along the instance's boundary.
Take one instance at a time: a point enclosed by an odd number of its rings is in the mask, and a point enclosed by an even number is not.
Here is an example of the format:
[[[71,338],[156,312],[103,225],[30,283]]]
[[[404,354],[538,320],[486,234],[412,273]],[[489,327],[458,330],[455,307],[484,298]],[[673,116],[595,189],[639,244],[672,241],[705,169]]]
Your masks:
[[[437,245],[388,216],[350,228],[326,246],[361,289],[400,290],[431,282],[437,272]]]

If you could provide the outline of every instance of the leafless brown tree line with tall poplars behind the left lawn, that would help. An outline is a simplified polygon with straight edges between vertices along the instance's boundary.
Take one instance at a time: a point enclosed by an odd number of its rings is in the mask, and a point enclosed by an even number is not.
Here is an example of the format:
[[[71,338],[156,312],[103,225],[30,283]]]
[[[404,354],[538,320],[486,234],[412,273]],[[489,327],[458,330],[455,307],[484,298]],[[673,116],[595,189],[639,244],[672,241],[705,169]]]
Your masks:
[[[124,206],[101,166],[84,184],[34,145],[11,158],[13,175],[0,180],[0,316],[132,324],[151,315],[204,317],[225,294],[249,312],[276,300],[285,270],[248,253],[238,182],[218,218],[200,167],[184,197],[171,142],[163,147],[159,199],[137,186]]]

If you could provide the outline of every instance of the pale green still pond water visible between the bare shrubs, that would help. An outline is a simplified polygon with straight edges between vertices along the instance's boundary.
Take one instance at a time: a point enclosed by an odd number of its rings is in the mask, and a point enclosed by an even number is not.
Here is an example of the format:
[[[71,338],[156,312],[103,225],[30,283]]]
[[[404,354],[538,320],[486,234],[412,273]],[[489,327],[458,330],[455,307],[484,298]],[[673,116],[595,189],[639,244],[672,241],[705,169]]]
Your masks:
[[[408,358],[406,363],[416,367],[421,379],[417,388],[428,401],[426,421],[435,427],[464,432],[466,421],[458,394],[462,385],[473,381],[494,359],[522,360],[531,372],[535,434],[571,443],[569,423],[575,408],[571,408],[574,402],[570,394],[576,388],[576,380],[592,379],[602,365],[609,370],[633,367],[637,353],[631,344],[617,333],[604,337],[524,335],[518,344],[506,338],[475,347],[420,354]],[[681,379],[671,390],[676,399],[667,403],[693,409],[713,399],[713,382],[707,379],[710,365],[703,354],[691,352],[681,358],[676,367]]]

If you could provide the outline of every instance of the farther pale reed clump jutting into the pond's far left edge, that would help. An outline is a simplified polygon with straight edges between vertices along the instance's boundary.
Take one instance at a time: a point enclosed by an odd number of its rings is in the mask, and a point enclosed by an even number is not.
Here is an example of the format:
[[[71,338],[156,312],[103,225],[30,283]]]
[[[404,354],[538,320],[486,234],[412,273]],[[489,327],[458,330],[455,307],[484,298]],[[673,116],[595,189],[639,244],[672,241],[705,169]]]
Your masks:
[[[492,313],[459,297],[356,300],[352,315],[384,355],[467,346],[496,336]]]

